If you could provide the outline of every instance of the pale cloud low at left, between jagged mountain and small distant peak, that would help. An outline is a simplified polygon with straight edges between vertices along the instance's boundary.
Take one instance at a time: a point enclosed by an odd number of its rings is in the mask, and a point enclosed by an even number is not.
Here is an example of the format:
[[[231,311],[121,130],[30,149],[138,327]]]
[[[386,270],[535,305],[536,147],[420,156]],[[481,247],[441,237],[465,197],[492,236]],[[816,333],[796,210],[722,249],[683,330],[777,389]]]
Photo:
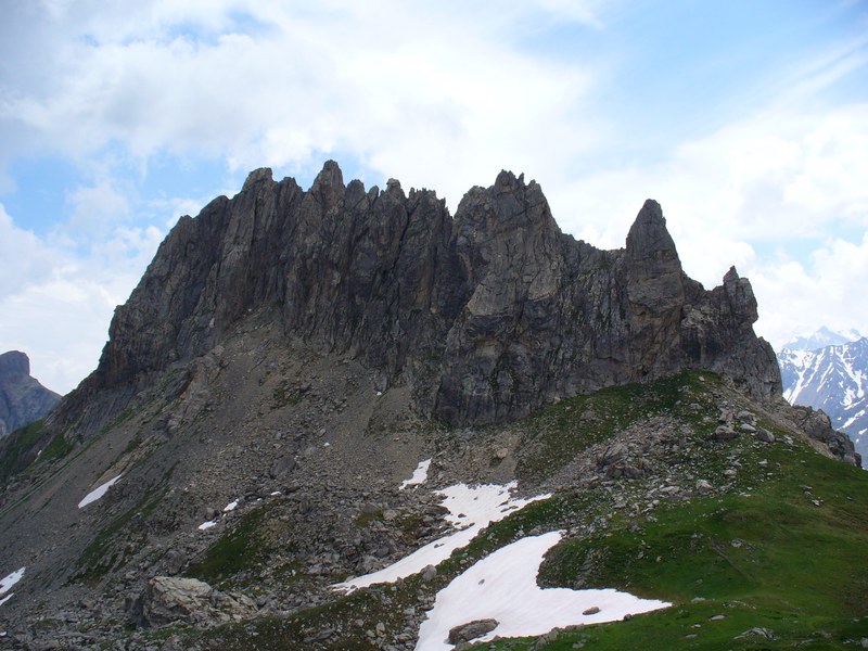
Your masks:
[[[95,368],[115,306],[162,237],[117,228],[80,256],[16,228],[0,206],[0,352],[25,352],[35,378],[67,393]]]

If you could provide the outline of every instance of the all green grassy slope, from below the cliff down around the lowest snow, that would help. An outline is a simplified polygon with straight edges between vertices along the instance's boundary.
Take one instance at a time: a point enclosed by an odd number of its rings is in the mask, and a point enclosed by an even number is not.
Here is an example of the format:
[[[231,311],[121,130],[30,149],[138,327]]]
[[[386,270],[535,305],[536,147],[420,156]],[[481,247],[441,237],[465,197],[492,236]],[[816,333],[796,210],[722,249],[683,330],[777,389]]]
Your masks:
[[[309,640],[308,634],[334,628],[340,633],[321,640],[324,646],[374,649],[378,643],[366,639],[366,630],[381,622],[397,635],[405,626],[401,611],[413,607],[420,593],[433,596],[492,550],[531,533],[596,522],[600,526],[567,537],[549,554],[540,584],[616,587],[671,601],[673,608],[480,649],[858,647],[868,637],[868,473],[802,444],[767,445],[753,437],[709,442],[714,425],[702,413],[714,409],[715,387],[719,383],[711,375],[688,373],[562,400],[525,422],[528,455],[520,473],[547,474],[638,419],[667,413],[693,432],[691,451],[672,459],[687,477],[720,485],[727,481],[723,471],[738,456],[741,470],[725,494],[664,500],[648,511],[614,506],[625,497],[642,503],[648,485],[637,482],[566,490],[490,526],[442,563],[429,584],[410,577],[374,586],[291,617],[224,627],[199,641],[214,649],[254,643],[295,649]],[[774,638],[739,637],[754,628]]]

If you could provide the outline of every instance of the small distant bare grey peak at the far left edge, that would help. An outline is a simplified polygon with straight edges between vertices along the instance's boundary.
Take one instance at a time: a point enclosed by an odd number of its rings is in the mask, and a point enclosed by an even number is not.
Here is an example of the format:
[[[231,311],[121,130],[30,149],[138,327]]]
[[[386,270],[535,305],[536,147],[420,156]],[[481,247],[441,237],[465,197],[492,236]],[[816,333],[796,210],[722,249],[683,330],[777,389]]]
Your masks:
[[[0,438],[42,418],[61,399],[30,376],[30,359],[10,350],[0,355]]]

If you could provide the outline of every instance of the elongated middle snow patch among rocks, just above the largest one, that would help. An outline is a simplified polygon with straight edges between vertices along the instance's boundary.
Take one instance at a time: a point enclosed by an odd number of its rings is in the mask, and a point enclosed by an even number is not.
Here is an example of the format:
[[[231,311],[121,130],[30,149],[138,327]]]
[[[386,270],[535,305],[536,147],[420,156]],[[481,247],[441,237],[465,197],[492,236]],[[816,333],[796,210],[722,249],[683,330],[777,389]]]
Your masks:
[[[427,565],[437,565],[448,559],[456,549],[467,546],[490,523],[498,522],[532,502],[551,497],[547,494],[528,499],[513,498],[510,493],[515,486],[515,482],[510,482],[506,486],[455,484],[437,490],[437,495],[444,496],[441,505],[449,510],[445,520],[452,526],[460,527],[459,531],[429,542],[388,567],[335,584],[332,588],[352,592],[357,588],[366,588],[379,583],[394,583],[399,578],[417,574]]]

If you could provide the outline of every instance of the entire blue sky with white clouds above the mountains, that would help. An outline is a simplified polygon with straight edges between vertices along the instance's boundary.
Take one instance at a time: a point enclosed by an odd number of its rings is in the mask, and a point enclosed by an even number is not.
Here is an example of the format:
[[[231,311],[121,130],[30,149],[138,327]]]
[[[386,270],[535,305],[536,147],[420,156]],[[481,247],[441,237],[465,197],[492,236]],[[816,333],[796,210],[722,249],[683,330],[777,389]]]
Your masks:
[[[329,158],[602,248],[652,197],[776,348],[866,333],[866,152],[863,0],[0,0],[0,352],[68,392],[179,216]]]

